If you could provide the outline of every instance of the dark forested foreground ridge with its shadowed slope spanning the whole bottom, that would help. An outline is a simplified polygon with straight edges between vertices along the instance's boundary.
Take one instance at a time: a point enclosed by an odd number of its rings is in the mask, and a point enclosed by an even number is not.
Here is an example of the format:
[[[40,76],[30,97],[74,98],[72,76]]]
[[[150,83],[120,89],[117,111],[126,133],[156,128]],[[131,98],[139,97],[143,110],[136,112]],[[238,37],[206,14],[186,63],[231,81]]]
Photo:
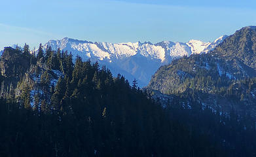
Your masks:
[[[50,47],[5,48],[0,156],[255,156],[255,121],[175,96],[162,106],[118,75]],[[18,61],[21,62],[18,62]],[[24,61],[23,61],[24,60]],[[192,94],[189,94],[192,96]]]

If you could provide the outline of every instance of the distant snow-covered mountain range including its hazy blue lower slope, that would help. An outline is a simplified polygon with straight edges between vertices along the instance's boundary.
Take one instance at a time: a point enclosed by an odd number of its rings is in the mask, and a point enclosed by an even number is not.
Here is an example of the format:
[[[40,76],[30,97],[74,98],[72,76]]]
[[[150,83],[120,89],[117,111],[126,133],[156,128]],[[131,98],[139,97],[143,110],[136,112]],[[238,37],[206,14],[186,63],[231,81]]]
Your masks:
[[[191,40],[188,43],[162,41],[146,43],[104,43],[79,41],[65,37],[61,40],[50,40],[44,48],[67,50],[83,60],[90,59],[106,65],[114,75],[120,73],[130,82],[137,79],[139,86],[146,86],[151,76],[161,66],[170,63],[174,58],[191,54],[207,53],[221,43],[227,35],[219,37],[213,43]]]

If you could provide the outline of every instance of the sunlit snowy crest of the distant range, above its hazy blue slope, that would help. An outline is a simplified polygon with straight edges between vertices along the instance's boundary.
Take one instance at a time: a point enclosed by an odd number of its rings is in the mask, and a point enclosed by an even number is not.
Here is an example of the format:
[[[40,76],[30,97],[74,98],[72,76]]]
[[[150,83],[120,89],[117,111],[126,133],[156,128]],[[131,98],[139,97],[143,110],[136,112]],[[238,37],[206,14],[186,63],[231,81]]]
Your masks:
[[[227,36],[216,39],[213,43],[204,43],[198,40],[191,40],[188,43],[179,43],[172,41],[162,41],[152,44],[150,42],[137,43],[105,43],[90,41],[79,41],[65,37],[61,40],[50,40],[44,45],[44,48],[51,46],[53,50],[67,50],[72,52],[73,56],[81,56],[82,59],[95,58],[98,60],[117,60],[135,56],[136,54],[149,58],[151,60],[160,60],[162,63],[170,63],[172,58],[181,56],[190,56],[191,54],[200,54],[209,52],[217,44],[221,43]]]

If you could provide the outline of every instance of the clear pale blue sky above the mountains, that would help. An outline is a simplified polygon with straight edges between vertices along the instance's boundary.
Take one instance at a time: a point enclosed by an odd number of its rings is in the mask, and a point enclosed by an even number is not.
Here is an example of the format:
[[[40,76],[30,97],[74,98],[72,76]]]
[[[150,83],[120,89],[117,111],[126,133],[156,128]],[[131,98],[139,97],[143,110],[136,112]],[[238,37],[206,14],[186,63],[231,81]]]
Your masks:
[[[111,43],[213,41],[256,26],[252,0],[3,0],[0,50],[70,37]]]

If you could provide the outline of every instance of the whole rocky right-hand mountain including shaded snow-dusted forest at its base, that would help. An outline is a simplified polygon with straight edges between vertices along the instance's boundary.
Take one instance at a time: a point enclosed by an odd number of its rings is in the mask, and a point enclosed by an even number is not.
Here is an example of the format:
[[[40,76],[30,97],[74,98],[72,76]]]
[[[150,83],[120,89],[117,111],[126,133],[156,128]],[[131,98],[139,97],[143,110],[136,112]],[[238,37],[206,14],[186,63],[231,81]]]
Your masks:
[[[256,27],[243,27],[208,54],[160,67],[148,88],[169,95],[196,95],[202,105],[216,110],[234,107],[239,113],[255,114],[255,77]]]

